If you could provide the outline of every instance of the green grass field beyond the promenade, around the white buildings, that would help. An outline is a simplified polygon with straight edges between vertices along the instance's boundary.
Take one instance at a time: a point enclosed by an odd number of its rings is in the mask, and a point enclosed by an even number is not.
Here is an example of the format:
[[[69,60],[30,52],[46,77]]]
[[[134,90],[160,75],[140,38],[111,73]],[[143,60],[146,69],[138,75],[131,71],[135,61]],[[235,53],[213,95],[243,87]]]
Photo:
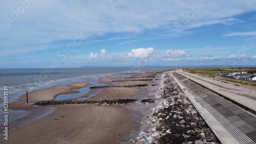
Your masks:
[[[193,74],[198,74],[206,77],[219,76],[220,73],[233,73],[234,71],[244,71],[244,70],[256,70],[256,67],[203,67],[203,68],[186,68],[185,71]],[[242,85],[248,85],[256,87],[256,83],[243,81],[243,80],[234,80],[220,77],[221,80],[239,83]]]

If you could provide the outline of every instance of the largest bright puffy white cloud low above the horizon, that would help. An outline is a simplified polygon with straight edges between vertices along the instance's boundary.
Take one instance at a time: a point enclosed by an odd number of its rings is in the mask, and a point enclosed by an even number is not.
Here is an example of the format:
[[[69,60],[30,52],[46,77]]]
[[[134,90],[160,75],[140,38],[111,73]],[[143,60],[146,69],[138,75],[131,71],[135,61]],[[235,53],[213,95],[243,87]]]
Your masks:
[[[128,53],[127,56],[131,58],[147,58],[154,52],[153,47],[149,47],[147,49],[139,48],[133,49],[131,53]]]

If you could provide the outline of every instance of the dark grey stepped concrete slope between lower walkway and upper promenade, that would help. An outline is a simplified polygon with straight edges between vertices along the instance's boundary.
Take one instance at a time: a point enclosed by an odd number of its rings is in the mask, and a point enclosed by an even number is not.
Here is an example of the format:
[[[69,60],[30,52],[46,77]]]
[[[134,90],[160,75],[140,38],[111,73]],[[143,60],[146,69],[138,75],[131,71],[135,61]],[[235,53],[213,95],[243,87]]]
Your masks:
[[[240,143],[256,143],[256,115],[178,73],[172,74]]]

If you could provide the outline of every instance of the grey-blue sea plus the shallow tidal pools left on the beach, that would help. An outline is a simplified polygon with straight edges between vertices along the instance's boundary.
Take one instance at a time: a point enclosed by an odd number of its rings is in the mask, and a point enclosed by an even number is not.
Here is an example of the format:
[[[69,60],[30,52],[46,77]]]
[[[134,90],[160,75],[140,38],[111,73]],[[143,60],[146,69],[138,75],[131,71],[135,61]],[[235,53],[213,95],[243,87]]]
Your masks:
[[[88,81],[90,86],[100,86],[106,85],[98,82],[98,78],[112,76],[112,75],[122,75],[122,74],[135,74],[144,73],[146,70],[164,70],[169,68],[161,67],[125,67],[125,68],[18,68],[18,69],[0,69],[0,98],[4,100],[4,89],[8,89],[8,104],[15,102],[18,97],[26,91],[30,92],[37,89],[49,88],[55,85],[67,85],[74,82],[84,82]],[[120,79],[119,79],[120,80]],[[58,95],[55,100],[67,100],[79,98],[82,95],[90,91],[89,87],[84,87],[81,89],[75,89],[77,93],[72,94],[61,94]],[[90,93],[91,94],[91,93]],[[96,93],[95,93],[96,94]],[[0,123],[4,123],[4,103],[0,104]],[[51,109],[40,109],[37,107],[37,112],[32,113],[32,115],[40,115],[36,119],[47,115],[54,111]],[[31,111],[28,110],[11,110],[8,109],[8,122],[11,123],[16,119],[20,119],[30,114]],[[36,120],[33,118],[33,121]],[[18,127],[25,125],[26,123],[17,123]],[[14,124],[12,124],[14,125]],[[2,129],[2,126],[0,126]],[[3,131],[0,132],[0,137]]]

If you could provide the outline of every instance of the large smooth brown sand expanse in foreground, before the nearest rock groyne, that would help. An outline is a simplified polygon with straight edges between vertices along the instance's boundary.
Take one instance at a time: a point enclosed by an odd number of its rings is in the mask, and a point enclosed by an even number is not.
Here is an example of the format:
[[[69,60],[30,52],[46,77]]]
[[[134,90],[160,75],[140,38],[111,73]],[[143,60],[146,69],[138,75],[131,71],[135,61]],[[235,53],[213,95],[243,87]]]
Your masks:
[[[53,113],[9,132],[0,143],[116,143],[129,132],[129,111],[117,106],[58,105]]]

